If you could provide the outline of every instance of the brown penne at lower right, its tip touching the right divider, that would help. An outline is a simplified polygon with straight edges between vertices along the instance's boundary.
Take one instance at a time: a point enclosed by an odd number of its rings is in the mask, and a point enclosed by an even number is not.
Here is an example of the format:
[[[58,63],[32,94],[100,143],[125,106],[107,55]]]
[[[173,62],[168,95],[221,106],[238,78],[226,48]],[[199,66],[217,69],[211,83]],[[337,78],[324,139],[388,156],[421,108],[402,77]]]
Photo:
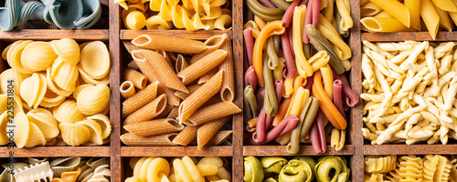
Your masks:
[[[215,119],[230,116],[241,112],[235,104],[224,101],[215,105],[206,106],[197,109],[197,111],[189,116],[184,123],[188,126],[199,126]]]

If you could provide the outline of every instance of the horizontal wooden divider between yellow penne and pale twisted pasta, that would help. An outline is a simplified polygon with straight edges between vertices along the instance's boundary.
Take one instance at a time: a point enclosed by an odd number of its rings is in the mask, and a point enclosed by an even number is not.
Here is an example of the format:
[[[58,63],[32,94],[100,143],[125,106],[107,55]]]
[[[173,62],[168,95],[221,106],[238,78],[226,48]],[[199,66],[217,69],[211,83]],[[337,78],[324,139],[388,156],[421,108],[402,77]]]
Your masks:
[[[354,9],[353,9],[354,11]],[[360,21],[358,21],[360,22]],[[354,21],[356,24],[356,21]],[[398,32],[398,33],[362,33],[362,41],[370,42],[398,42],[398,41],[456,41],[457,32],[438,32],[433,40],[429,32]]]

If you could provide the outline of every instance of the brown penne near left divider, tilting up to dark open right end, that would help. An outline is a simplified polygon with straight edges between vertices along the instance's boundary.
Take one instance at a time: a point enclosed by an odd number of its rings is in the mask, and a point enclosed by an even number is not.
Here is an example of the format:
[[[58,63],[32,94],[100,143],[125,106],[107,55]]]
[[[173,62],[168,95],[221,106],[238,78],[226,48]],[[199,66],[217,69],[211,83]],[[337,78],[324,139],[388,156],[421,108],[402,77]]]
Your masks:
[[[159,115],[162,111],[164,111],[165,106],[166,96],[164,94],[157,96],[153,102],[150,102],[149,104],[133,112],[131,115],[127,116],[123,122],[123,125],[151,120],[155,116]]]

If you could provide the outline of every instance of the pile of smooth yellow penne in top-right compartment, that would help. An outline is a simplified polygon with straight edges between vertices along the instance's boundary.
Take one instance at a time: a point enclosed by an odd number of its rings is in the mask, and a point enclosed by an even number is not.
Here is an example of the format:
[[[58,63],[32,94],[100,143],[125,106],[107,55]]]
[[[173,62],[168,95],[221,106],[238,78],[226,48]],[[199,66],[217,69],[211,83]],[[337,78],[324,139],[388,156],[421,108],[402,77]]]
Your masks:
[[[368,32],[409,32],[424,30],[425,23],[435,39],[440,26],[452,31],[457,24],[457,2],[452,0],[361,0],[360,23]]]

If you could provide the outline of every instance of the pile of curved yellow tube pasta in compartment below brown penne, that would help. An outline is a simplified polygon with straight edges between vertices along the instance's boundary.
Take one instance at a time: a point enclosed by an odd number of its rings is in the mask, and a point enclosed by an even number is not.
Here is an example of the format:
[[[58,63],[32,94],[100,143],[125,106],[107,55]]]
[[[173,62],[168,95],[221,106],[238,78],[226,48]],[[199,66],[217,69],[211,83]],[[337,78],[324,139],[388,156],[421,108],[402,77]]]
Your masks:
[[[133,177],[125,182],[231,181],[225,157],[174,157],[170,162],[163,157],[133,157],[129,164]]]

